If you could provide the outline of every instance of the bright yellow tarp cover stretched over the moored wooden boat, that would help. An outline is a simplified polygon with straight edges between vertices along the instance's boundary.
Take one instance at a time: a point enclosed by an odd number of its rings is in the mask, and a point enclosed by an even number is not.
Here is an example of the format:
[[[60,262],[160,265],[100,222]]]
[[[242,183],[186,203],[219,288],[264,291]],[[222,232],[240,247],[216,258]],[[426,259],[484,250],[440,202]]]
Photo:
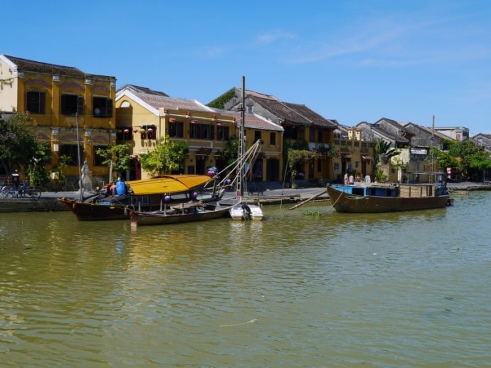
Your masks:
[[[134,194],[171,194],[180,191],[188,191],[196,186],[204,185],[209,182],[211,177],[208,175],[163,175],[151,179],[130,180],[126,182]]]

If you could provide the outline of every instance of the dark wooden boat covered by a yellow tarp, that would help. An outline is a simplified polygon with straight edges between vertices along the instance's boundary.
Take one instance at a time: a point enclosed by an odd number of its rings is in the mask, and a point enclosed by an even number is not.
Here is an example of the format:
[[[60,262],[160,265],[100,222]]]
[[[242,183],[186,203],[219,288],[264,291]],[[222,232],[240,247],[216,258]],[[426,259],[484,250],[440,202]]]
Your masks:
[[[163,201],[176,204],[191,199],[202,202],[221,199],[225,189],[217,186],[203,189],[211,181],[213,178],[207,175],[164,175],[126,182],[126,194],[113,195],[103,191],[83,201],[64,197],[58,201],[80,221],[127,220],[130,218],[130,209],[157,211]]]

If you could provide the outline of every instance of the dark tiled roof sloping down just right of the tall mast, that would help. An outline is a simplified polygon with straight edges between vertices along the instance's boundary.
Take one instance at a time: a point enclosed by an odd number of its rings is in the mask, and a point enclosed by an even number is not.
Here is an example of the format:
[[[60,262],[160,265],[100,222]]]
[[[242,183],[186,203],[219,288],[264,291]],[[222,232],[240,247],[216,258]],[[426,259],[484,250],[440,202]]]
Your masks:
[[[305,105],[294,104],[289,102],[281,102],[270,98],[260,98],[257,96],[249,96],[253,101],[264,107],[266,110],[280,117],[285,122],[290,122],[296,125],[317,125],[321,127],[337,127],[334,122],[325,119],[321,115],[310,110]]]

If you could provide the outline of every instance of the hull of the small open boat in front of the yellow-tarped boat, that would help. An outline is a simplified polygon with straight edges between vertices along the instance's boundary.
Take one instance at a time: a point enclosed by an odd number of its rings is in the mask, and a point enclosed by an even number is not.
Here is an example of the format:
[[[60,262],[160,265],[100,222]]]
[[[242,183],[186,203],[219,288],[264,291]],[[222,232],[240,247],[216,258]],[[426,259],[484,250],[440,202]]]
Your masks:
[[[185,222],[207,221],[228,215],[229,206],[216,206],[215,209],[196,213],[163,214],[160,211],[130,211],[132,226],[168,225]]]

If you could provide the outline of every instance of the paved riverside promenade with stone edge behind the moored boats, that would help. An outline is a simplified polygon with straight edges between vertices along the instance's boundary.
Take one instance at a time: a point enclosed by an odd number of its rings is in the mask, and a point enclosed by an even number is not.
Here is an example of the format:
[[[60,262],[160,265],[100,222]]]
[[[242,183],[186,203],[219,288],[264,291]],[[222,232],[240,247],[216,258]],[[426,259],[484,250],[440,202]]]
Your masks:
[[[491,182],[473,183],[447,183],[448,191],[452,193],[462,193],[477,190],[491,190]],[[85,192],[84,198],[92,196],[92,192]],[[223,200],[230,199],[233,192],[225,194]],[[41,198],[5,198],[0,196],[0,213],[11,212],[51,212],[51,211],[68,211],[58,198],[79,199],[78,191],[43,191]],[[315,186],[308,188],[282,188],[281,184],[265,184],[261,191],[250,191],[247,196],[250,203],[260,205],[268,204],[296,204],[309,199],[315,201],[327,201],[326,189]]]

